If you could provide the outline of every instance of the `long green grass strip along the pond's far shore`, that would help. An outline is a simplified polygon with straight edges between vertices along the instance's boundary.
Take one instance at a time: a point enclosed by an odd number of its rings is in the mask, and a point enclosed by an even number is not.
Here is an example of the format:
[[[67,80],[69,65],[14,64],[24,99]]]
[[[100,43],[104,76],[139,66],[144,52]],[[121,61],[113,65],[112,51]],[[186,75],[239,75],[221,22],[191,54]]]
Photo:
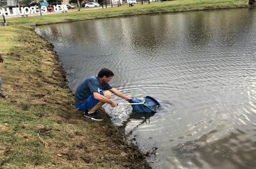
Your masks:
[[[68,13],[58,14],[45,14],[43,16],[29,16],[7,19],[9,25],[15,24],[51,24],[65,21],[82,21],[86,19],[99,19],[115,16],[129,16],[138,14],[152,14],[171,11],[191,11],[202,9],[224,9],[224,8],[236,8],[247,7],[247,1],[245,0],[175,0],[175,1],[163,1],[163,2],[151,2],[143,5],[139,2],[133,7],[129,7],[127,4],[122,6],[115,6],[107,9],[81,9],[76,11],[72,9]]]

